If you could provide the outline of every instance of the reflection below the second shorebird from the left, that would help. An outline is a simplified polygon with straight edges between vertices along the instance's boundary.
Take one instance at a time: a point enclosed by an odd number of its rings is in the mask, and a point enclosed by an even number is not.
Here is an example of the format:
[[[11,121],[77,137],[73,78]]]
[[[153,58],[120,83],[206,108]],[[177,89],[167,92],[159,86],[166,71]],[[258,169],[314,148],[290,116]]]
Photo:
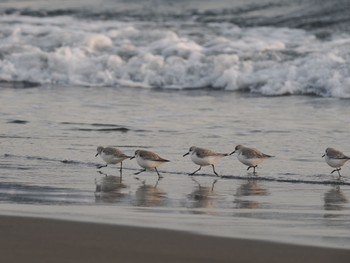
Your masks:
[[[135,206],[155,207],[165,206],[167,203],[167,194],[163,192],[158,183],[161,178],[158,178],[155,185],[147,185],[145,181],[135,192]]]

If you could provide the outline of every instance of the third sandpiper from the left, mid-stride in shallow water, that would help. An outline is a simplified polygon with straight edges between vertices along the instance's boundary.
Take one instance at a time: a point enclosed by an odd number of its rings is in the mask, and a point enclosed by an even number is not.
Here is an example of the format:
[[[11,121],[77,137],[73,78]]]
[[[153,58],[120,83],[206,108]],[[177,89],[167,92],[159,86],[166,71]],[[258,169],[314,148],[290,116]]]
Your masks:
[[[183,155],[183,157],[189,154],[191,155],[192,162],[199,165],[199,169],[194,171],[193,173],[190,173],[189,175],[194,175],[196,172],[198,172],[202,168],[202,166],[211,165],[213,167],[214,174],[217,176],[219,175],[215,171],[214,164],[218,163],[223,157],[229,155],[227,153],[217,153],[217,152],[213,152],[211,150],[199,148],[196,146],[192,146],[189,149],[189,151]]]

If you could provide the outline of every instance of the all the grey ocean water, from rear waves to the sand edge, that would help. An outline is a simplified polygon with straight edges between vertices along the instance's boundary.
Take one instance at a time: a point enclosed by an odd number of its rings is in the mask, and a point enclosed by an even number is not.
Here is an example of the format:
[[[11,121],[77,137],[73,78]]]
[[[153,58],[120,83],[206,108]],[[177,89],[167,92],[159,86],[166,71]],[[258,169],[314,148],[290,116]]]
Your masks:
[[[0,213],[350,248],[348,1],[0,3]],[[192,145],[235,155],[196,176]],[[135,176],[98,145],[171,160]],[[187,156],[188,157],[188,156]]]

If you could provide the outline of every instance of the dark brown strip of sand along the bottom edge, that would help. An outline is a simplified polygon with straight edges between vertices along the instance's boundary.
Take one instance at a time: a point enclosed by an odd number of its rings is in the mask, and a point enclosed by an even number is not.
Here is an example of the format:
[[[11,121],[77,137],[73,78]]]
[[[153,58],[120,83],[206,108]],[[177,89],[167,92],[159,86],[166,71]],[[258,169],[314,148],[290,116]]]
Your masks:
[[[0,262],[349,262],[350,250],[0,216]]]

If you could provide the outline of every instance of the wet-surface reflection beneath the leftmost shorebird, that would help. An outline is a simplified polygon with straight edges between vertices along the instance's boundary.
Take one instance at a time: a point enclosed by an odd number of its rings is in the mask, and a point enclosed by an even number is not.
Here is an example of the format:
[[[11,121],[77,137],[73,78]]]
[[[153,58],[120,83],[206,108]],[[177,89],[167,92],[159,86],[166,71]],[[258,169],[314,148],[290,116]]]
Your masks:
[[[97,203],[120,202],[127,195],[122,192],[124,188],[127,188],[127,185],[122,183],[122,177],[107,175],[101,171],[99,173],[105,177],[95,179],[95,201]]]

